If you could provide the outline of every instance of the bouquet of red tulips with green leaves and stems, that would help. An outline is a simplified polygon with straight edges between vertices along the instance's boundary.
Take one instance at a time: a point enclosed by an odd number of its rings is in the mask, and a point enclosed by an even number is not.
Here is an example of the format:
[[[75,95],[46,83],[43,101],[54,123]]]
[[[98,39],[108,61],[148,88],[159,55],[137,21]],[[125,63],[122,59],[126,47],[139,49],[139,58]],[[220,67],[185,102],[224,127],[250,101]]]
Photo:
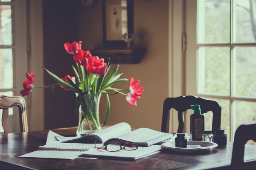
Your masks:
[[[59,78],[49,70],[44,71],[56,81],[56,84],[48,86],[34,86],[34,73],[26,73],[27,80],[23,82],[23,89],[20,91],[22,96],[28,95],[33,88],[52,87],[52,96],[54,99],[54,87],[60,86],[66,91],[72,90],[76,93],[75,112],[79,114],[79,127],[77,134],[81,133],[82,122],[86,121],[90,130],[101,130],[99,121],[99,101],[101,95],[107,96],[107,108],[103,126],[108,120],[110,112],[109,95],[122,94],[126,96],[129,104],[137,106],[137,100],[140,99],[143,87],[140,86],[139,80],[134,80],[134,76],[130,79],[129,89],[118,89],[112,87],[114,84],[122,81],[129,81],[126,78],[120,78],[122,73],[116,74],[119,64],[110,71],[111,63],[105,63],[104,59],[93,56],[88,50],[81,49],[81,41],[65,43],[66,51],[73,55],[75,66],[72,65],[74,76],[66,75]],[[125,93],[128,92],[128,93]],[[55,101],[55,100],[54,100]],[[90,124],[92,122],[92,125]]]

